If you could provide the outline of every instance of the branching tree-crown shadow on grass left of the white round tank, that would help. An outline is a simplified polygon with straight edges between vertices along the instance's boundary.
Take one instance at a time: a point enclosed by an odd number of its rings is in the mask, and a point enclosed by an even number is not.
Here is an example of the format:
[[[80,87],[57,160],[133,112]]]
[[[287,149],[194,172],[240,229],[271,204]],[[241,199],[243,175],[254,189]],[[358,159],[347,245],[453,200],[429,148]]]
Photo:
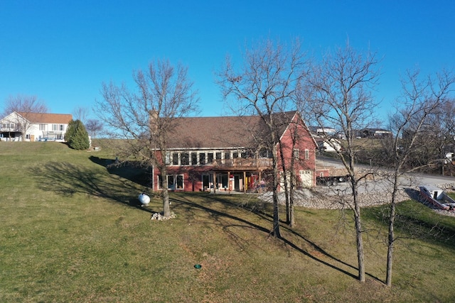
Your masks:
[[[155,212],[141,207],[139,199],[133,194],[138,192],[133,184],[121,180],[113,182],[97,169],[73,165],[70,162],[48,162],[45,166],[31,167],[30,172],[36,177],[40,189],[55,192],[62,197],[87,194]]]

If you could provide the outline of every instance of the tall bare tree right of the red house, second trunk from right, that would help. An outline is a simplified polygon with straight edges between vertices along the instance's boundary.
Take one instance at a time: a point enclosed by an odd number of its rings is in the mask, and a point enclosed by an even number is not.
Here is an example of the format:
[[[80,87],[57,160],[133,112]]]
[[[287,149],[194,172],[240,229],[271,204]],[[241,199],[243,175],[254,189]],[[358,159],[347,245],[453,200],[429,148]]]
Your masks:
[[[346,43],[335,53],[323,57],[321,65],[314,67],[314,74],[302,89],[301,111],[313,116],[323,130],[321,136],[333,144],[338,157],[350,176],[352,202],[346,204],[353,210],[358,254],[358,279],[365,281],[363,253],[363,226],[360,219],[359,182],[368,173],[356,170],[358,149],[355,145],[355,131],[368,125],[373,117],[375,101],[371,90],[377,84],[378,60],[375,54],[357,53]],[[329,132],[334,129],[335,132]],[[335,144],[341,143],[341,149]]]

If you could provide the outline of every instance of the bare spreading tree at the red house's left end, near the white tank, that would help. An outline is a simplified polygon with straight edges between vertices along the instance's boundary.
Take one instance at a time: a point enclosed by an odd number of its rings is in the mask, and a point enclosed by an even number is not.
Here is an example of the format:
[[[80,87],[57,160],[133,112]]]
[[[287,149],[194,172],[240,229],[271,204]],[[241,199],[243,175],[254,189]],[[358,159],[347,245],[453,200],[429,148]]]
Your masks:
[[[102,84],[103,100],[97,113],[105,122],[110,138],[122,138],[118,153],[124,160],[135,160],[156,167],[161,175],[164,217],[171,216],[167,184],[167,138],[172,136],[178,118],[197,109],[197,92],[188,79],[188,68],[173,67],[168,60],[151,63],[146,71],[133,73],[137,92],[124,84]]]

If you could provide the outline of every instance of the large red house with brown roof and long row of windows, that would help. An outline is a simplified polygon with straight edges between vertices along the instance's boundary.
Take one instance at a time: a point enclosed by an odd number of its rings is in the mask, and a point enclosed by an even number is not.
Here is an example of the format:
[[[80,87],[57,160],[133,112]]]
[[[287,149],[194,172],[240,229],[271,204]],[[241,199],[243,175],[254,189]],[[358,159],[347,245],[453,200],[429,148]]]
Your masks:
[[[298,186],[315,186],[316,142],[300,114],[274,114],[274,121],[282,142],[281,147],[277,145],[278,158],[284,158],[284,165],[289,167],[294,157]],[[266,186],[272,155],[264,147],[264,138],[268,138],[264,130],[259,116],[176,119],[166,142],[168,189],[194,192],[215,187],[220,191],[247,192]],[[281,160],[279,171],[283,175]],[[154,169],[152,175],[153,190],[161,189],[159,170]]]

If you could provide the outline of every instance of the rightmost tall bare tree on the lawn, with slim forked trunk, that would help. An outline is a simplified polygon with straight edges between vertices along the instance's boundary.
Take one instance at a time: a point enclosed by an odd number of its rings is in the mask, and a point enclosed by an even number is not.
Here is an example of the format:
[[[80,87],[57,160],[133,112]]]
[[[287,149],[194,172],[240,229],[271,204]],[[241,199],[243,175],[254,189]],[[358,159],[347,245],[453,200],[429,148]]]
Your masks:
[[[419,71],[407,72],[407,78],[402,81],[403,96],[397,100],[395,114],[390,116],[390,127],[393,137],[388,138],[387,158],[392,159],[390,181],[392,182],[392,197],[388,214],[387,237],[387,274],[386,284],[392,286],[392,263],[395,248],[395,219],[396,205],[400,190],[402,190],[402,176],[408,158],[419,148],[425,145],[425,140],[419,140],[422,135],[427,135],[427,125],[432,123],[432,118],[439,116],[441,109],[446,108],[450,87],[455,83],[455,77],[443,71],[437,77],[428,77],[419,80]],[[453,117],[452,117],[453,119]],[[452,133],[453,136],[453,133]],[[412,169],[412,167],[410,167]]]

